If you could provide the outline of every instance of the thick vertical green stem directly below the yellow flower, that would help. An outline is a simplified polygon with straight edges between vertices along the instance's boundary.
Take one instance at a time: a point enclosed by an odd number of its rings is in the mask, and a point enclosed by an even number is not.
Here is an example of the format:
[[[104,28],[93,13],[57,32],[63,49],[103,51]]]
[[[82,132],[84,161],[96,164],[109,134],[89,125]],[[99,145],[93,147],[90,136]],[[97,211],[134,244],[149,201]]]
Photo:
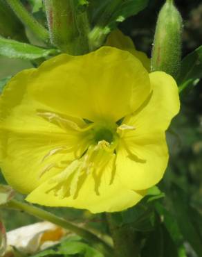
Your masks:
[[[113,238],[113,244],[116,257],[139,257],[140,242],[138,242],[137,233],[131,229],[131,226],[118,226],[113,221],[113,213],[107,214],[109,229]]]

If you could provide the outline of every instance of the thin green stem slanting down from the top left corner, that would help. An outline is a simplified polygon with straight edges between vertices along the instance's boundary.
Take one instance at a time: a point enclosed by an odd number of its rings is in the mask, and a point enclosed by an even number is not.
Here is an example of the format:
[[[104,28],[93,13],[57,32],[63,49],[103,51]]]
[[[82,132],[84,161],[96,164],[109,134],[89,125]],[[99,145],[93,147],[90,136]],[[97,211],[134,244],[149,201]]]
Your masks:
[[[46,30],[46,28],[44,28],[44,26],[42,26],[42,24],[39,24],[39,22],[37,22],[37,20],[33,17],[33,15],[28,13],[28,11],[23,6],[21,1],[7,0],[7,2],[12,8],[12,10],[14,10],[17,17],[21,20],[21,22],[25,26],[28,26],[30,30],[33,31],[33,33],[35,33],[35,35],[38,36],[38,38],[40,38],[44,42],[48,42],[49,40],[48,31]]]

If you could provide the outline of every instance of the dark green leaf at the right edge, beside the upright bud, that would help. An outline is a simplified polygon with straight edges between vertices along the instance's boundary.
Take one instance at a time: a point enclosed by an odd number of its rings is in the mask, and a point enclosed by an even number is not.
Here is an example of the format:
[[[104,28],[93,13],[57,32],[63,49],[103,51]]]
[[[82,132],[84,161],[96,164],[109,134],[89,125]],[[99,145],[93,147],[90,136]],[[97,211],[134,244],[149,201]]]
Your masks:
[[[177,83],[179,91],[192,88],[202,78],[202,46],[188,54],[182,61]]]

